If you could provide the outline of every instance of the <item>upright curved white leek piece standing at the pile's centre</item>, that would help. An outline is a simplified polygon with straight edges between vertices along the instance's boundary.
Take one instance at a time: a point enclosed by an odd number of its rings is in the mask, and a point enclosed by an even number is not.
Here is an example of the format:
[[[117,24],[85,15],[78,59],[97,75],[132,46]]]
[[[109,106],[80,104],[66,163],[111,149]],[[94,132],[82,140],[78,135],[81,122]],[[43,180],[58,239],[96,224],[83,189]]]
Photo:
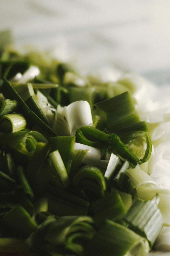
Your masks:
[[[92,112],[85,100],[79,100],[65,107],[65,118],[70,128],[71,136],[75,136],[77,129],[92,125]]]

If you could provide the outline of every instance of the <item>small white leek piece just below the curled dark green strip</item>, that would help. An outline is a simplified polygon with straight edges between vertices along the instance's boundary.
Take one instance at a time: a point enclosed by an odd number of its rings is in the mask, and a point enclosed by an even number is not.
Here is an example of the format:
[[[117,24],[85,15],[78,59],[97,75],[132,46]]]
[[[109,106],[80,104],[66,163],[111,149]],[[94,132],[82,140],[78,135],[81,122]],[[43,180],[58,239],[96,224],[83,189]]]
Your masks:
[[[83,159],[83,163],[86,163],[86,164],[100,163],[100,160],[101,160],[100,149],[75,142],[74,150],[77,150],[77,149],[89,150]]]

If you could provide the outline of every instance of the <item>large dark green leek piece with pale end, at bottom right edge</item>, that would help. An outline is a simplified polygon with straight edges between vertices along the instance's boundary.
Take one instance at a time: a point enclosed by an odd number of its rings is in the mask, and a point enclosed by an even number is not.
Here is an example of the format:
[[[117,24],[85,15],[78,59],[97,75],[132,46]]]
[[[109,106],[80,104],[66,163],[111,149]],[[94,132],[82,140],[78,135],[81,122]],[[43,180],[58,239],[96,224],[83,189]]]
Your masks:
[[[111,220],[105,221],[85,248],[85,256],[147,256],[148,252],[145,238]]]

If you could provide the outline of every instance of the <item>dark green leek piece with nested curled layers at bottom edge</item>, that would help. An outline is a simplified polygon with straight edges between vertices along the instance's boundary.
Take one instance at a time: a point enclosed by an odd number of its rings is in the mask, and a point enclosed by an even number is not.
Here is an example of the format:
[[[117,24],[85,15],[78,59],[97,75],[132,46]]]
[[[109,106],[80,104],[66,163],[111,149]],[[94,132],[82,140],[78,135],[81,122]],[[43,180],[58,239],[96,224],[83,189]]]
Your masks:
[[[95,234],[89,216],[49,216],[28,238],[36,253],[46,255],[84,255],[84,246]]]

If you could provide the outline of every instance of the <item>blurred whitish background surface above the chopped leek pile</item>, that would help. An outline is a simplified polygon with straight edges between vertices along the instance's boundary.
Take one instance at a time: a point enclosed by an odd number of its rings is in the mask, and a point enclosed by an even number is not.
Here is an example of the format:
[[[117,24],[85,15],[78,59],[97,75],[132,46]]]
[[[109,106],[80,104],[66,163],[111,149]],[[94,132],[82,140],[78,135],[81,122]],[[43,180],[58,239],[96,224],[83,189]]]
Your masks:
[[[0,0],[0,30],[19,46],[57,46],[80,67],[116,65],[161,84],[170,82],[169,13],[169,0]]]

